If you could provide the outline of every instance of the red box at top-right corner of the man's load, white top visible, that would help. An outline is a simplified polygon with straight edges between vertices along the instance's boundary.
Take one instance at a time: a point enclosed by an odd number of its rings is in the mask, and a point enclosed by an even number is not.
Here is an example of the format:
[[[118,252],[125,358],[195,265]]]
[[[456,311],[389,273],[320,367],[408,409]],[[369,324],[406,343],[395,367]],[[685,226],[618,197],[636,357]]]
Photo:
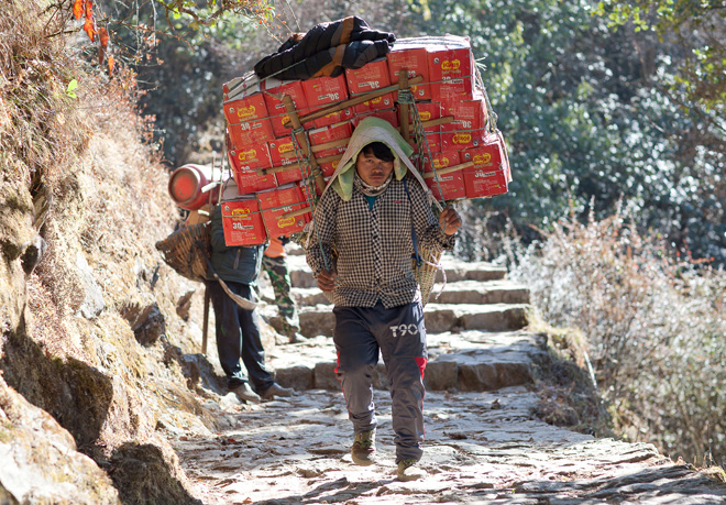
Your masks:
[[[474,56],[469,39],[447,35],[428,51],[431,94],[440,100],[471,100],[474,92]]]

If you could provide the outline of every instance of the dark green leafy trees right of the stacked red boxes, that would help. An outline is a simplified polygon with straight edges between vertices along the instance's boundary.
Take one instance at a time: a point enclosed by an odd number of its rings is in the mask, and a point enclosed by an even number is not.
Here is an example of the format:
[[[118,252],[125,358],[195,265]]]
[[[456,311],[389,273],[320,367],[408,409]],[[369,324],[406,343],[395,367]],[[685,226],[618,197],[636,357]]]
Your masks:
[[[484,65],[514,182],[476,201],[481,211],[509,216],[531,240],[529,223],[548,228],[571,201],[585,219],[591,199],[602,217],[624,198],[641,229],[726,261],[726,135],[668,87],[678,47],[612,32],[587,0],[410,2],[406,35],[468,35]]]

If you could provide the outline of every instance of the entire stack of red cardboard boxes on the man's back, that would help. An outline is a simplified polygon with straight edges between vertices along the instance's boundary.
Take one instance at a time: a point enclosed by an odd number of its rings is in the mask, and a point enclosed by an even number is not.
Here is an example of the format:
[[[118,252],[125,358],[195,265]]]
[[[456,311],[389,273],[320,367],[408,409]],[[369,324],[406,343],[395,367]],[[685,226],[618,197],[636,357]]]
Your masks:
[[[469,40],[404,39],[385,58],[336,78],[261,81],[248,75],[223,86],[227,154],[238,188],[222,212],[228,244],[263,243],[268,237],[301,231],[311,219],[308,196],[315,185],[309,165],[300,162],[285,95],[302,122],[322,176],[329,177],[362,119],[382,118],[400,129],[403,72],[408,79],[420,76],[410,90],[431,153],[424,177],[433,195],[455,200],[506,193],[512,178],[506,150],[501,134],[490,129]],[[314,114],[322,109],[327,113]]]

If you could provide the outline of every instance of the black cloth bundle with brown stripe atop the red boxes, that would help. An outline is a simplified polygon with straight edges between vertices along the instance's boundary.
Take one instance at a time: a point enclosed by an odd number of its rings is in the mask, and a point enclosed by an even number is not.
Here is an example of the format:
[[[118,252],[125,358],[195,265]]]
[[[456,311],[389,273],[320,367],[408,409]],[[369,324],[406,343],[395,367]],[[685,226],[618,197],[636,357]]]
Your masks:
[[[385,56],[396,40],[393,33],[371,30],[356,15],[316,24],[299,42],[285,42],[254,66],[260,78],[307,80],[312,77],[338,77],[345,68],[361,68]]]

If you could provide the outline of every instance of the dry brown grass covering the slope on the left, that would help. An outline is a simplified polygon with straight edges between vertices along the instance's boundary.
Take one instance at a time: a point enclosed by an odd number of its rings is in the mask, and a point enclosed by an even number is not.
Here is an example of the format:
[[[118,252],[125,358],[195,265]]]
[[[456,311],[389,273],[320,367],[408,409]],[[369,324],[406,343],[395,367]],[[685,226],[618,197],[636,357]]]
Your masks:
[[[135,341],[119,309],[152,294],[167,318],[165,339],[195,352],[175,311],[189,283],[165,267],[154,248],[172,232],[177,210],[158,149],[148,143],[148,118],[135,106],[134,74],[96,72],[68,39],[51,36],[63,25],[43,8],[11,2],[0,13],[0,174],[30,189],[36,204],[46,201],[36,231],[47,250],[26,283],[26,337],[51,360],[78,360],[118,382],[118,408],[109,413],[107,440],[99,440],[111,450],[147,437],[156,415],[175,416],[156,396],[150,370],[185,383],[178,366],[163,362],[163,347]],[[66,94],[72,79],[77,98]],[[78,314],[87,295],[79,259],[106,304],[92,320]]]

